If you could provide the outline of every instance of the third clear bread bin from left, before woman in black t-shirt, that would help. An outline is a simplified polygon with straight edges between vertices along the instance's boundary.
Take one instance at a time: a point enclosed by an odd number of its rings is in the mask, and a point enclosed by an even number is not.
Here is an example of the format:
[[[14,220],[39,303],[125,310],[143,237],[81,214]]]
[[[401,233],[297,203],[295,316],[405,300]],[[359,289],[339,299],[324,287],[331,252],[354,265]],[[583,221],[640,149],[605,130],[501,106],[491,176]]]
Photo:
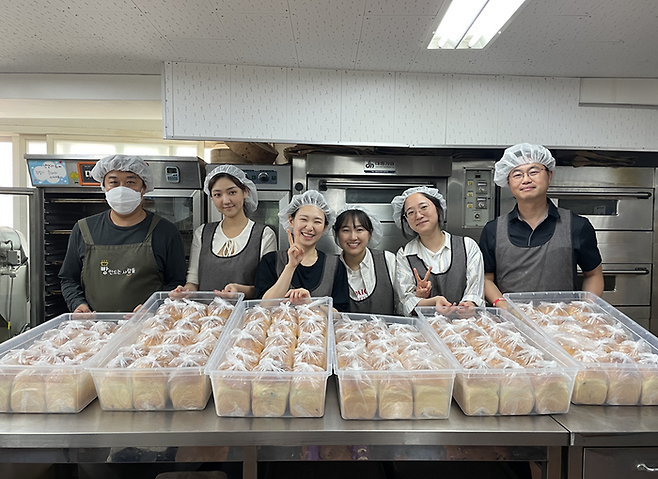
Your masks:
[[[332,304],[330,297],[240,304],[206,367],[217,415],[323,416]]]

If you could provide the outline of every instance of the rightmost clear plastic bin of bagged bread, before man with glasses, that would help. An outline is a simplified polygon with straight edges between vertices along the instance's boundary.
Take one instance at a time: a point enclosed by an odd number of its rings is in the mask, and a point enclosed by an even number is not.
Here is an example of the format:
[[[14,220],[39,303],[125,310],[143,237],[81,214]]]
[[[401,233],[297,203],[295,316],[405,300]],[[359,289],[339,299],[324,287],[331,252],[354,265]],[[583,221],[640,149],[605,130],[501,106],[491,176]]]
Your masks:
[[[585,291],[504,296],[578,361],[574,404],[658,405],[658,338],[628,316]]]

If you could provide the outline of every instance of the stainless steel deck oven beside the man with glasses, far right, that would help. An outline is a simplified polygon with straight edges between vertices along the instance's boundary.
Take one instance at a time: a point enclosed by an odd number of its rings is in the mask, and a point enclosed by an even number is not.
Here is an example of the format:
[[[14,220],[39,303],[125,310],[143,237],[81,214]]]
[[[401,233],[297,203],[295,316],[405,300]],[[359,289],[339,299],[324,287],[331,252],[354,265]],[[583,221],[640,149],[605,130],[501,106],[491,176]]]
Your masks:
[[[558,166],[548,189],[557,206],[586,217],[596,230],[603,259],[602,298],[649,328],[653,299],[654,171],[647,168]],[[501,203],[501,211],[514,199]],[[579,274],[578,281],[582,281]],[[655,281],[655,280],[653,280]]]

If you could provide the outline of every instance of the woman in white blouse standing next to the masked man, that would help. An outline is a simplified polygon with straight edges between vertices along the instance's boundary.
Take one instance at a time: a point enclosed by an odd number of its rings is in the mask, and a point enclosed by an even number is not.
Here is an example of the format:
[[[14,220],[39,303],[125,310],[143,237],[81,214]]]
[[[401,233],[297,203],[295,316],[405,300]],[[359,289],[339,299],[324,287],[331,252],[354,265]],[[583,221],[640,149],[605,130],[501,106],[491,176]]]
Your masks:
[[[196,229],[187,283],[174,292],[217,290],[253,298],[258,263],[276,251],[274,231],[248,218],[258,207],[256,185],[237,166],[221,165],[206,175],[203,190],[223,219]]]

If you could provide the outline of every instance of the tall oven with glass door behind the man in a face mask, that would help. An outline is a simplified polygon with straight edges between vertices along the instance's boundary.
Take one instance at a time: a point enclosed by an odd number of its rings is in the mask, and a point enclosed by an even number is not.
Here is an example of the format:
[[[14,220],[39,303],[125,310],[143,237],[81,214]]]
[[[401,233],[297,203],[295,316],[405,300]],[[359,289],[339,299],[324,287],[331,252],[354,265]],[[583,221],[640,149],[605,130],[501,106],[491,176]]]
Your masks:
[[[91,177],[91,169],[104,155],[25,155],[32,185],[37,187],[36,217],[31,241],[40,243],[32,281],[39,298],[33,298],[38,322],[67,312],[59,281],[71,229],[86,216],[108,209],[105,194]],[[205,221],[202,200],[203,160],[197,157],[142,156],[153,171],[154,191],[145,196],[144,209],[175,224],[189,257],[194,229]]]

